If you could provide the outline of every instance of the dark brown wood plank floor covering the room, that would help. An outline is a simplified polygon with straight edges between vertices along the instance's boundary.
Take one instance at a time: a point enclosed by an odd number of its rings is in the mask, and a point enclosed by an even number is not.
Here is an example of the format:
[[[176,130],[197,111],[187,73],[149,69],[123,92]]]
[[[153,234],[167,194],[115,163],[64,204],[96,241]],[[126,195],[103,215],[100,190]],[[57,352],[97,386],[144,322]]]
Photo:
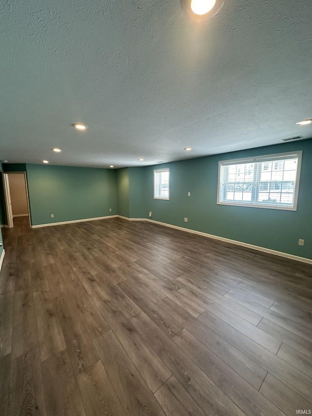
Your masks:
[[[312,409],[312,266],[119,218],[2,229],[1,416]]]

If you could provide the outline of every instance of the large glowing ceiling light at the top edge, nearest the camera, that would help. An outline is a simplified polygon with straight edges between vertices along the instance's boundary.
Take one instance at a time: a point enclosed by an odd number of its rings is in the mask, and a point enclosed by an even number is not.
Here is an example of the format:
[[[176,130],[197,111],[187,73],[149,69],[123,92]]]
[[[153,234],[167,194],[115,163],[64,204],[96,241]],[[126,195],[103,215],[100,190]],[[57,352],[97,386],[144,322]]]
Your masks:
[[[184,13],[191,20],[206,20],[215,16],[224,0],[181,0]]]

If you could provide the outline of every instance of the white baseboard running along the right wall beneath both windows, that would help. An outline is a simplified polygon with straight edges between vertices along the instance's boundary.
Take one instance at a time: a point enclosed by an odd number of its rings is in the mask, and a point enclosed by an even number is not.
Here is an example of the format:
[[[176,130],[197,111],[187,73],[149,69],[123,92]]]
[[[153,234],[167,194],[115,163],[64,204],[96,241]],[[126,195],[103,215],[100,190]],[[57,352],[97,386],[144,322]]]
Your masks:
[[[214,236],[213,234],[207,234],[207,233],[202,233],[201,231],[190,230],[189,228],[178,227],[177,225],[167,224],[166,222],[155,221],[154,219],[149,219],[149,218],[126,218],[126,217],[121,217],[119,215],[118,215],[118,217],[128,219],[128,220],[137,219],[137,221],[153,222],[155,224],[163,225],[165,227],[170,227],[170,228],[175,228],[176,230],[186,231],[187,233],[198,234],[199,236],[214,238],[215,240],[225,241],[227,243],[235,244],[235,245],[238,245],[238,246],[241,246],[241,247],[247,247],[247,248],[250,248],[252,250],[257,250],[257,251],[262,251],[264,253],[273,254],[274,256],[291,258],[292,260],[302,261],[303,263],[312,264],[312,259],[311,258],[294,256],[294,255],[289,254],[289,253],[283,253],[281,251],[271,250],[270,248],[255,246],[253,244],[248,244],[248,243],[243,243],[241,241],[231,240],[230,238]]]

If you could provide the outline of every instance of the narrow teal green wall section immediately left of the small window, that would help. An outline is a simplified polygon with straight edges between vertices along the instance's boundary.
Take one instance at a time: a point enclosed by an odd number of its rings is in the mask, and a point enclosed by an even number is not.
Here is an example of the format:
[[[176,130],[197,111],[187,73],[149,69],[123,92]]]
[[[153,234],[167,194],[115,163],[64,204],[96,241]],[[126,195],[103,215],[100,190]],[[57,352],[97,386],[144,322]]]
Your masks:
[[[145,167],[129,168],[130,218],[146,217]]]

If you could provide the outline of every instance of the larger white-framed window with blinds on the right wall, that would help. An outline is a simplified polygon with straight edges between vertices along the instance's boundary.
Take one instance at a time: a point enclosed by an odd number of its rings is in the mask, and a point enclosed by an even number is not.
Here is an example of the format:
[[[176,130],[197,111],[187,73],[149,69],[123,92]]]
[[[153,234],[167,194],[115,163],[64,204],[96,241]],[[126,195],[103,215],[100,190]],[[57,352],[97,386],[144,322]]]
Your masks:
[[[219,162],[217,203],[297,209],[302,152]]]

